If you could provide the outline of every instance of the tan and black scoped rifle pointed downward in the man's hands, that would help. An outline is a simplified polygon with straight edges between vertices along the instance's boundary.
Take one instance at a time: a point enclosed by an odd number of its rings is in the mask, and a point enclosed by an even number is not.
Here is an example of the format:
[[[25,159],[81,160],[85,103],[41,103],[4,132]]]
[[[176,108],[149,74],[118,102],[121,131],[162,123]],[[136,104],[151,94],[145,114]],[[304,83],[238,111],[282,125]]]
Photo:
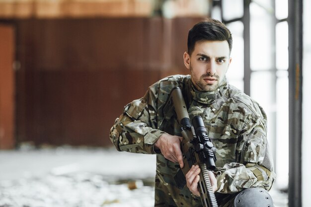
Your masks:
[[[193,125],[190,124],[181,89],[179,87],[173,88],[171,96],[183,137],[181,151],[183,153],[184,167],[176,174],[175,181],[178,188],[182,189],[186,184],[184,175],[187,174],[192,165],[199,165],[201,172],[198,189],[202,205],[203,207],[218,207],[208,174],[208,170],[216,168],[216,148],[207,136],[202,117],[194,117],[192,120]]]

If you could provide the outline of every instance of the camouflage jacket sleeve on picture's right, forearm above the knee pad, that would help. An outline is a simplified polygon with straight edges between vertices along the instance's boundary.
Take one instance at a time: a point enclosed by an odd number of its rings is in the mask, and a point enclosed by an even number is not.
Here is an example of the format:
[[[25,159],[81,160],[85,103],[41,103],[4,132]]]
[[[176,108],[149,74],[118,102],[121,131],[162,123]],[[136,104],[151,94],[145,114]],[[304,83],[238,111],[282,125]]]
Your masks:
[[[215,171],[219,193],[235,193],[251,187],[270,190],[276,177],[269,155],[265,118],[254,116],[247,119],[244,126],[236,147],[237,162]]]

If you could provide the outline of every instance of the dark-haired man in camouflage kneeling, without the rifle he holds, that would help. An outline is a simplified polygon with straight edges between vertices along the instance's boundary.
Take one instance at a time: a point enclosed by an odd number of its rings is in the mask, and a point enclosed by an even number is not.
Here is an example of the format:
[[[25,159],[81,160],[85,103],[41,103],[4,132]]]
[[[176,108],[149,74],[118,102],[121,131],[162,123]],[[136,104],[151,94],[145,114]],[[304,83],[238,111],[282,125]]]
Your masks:
[[[169,76],[150,86],[144,97],[124,108],[111,128],[110,139],[118,150],[156,154],[156,207],[202,205],[198,166],[186,174],[183,189],[174,181],[184,165],[182,137],[174,107],[168,101],[176,86],[183,91],[190,120],[196,115],[203,117],[217,148],[217,168],[209,174],[219,207],[255,207],[254,201],[273,206],[265,191],[275,179],[266,114],[258,103],[228,84],[231,50],[232,35],[224,24],[209,19],[194,25],[188,34],[188,52],[184,53],[190,75]]]

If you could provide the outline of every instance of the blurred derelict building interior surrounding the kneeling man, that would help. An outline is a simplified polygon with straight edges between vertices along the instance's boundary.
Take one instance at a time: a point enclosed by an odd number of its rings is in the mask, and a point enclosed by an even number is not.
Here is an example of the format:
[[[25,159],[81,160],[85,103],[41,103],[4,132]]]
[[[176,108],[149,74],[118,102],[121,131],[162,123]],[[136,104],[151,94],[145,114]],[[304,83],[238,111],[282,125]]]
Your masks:
[[[267,112],[277,204],[310,207],[310,9],[309,0],[0,0],[0,207],[153,206],[155,157],[116,152],[109,130],[149,85],[187,74],[188,30],[207,17],[233,33],[229,82]]]

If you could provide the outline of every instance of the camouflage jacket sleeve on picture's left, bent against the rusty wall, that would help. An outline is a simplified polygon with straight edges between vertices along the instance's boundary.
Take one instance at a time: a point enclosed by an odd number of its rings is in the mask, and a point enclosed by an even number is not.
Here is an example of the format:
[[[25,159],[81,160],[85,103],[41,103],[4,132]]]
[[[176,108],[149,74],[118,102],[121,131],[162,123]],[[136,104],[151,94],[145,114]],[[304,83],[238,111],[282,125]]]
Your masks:
[[[157,129],[157,84],[144,97],[125,106],[109,138],[119,151],[155,154],[154,143],[164,132]]]

